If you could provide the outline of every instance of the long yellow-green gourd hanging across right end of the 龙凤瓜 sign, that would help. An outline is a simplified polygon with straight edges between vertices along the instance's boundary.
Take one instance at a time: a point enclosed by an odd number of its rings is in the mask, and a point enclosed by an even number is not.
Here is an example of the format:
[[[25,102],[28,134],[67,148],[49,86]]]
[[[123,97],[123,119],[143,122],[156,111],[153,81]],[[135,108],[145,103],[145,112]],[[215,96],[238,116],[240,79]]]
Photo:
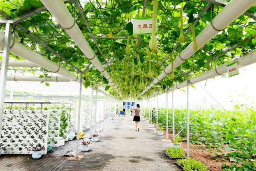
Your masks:
[[[156,54],[157,53],[157,0],[154,0],[153,16],[152,16],[152,36],[149,41],[149,48]]]

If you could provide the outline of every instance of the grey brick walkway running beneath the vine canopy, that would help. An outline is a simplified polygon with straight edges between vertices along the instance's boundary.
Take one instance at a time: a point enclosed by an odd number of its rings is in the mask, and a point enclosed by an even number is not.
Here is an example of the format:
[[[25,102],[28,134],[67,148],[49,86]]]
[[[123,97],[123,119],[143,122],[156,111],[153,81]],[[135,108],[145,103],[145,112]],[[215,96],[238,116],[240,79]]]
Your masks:
[[[157,136],[154,128],[140,122],[140,132],[135,132],[131,116],[120,116],[115,122],[107,119],[100,141],[90,145],[89,152],[79,152],[79,159],[55,156],[58,151],[74,152],[75,142],[68,142],[54,153],[41,159],[26,155],[0,156],[3,171],[180,171],[164,155],[170,142]]]

